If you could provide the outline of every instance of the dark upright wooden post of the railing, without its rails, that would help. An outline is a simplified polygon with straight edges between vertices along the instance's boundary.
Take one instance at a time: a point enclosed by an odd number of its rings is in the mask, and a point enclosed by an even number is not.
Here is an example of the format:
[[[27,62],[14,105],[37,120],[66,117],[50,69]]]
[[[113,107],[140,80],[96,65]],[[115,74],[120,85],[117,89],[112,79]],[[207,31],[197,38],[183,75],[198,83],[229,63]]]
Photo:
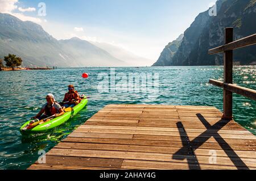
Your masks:
[[[225,28],[225,44],[231,43],[233,41],[233,28]],[[233,83],[233,50],[228,50],[224,52],[224,82]],[[224,88],[223,96],[223,119],[232,120],[232,92]]]

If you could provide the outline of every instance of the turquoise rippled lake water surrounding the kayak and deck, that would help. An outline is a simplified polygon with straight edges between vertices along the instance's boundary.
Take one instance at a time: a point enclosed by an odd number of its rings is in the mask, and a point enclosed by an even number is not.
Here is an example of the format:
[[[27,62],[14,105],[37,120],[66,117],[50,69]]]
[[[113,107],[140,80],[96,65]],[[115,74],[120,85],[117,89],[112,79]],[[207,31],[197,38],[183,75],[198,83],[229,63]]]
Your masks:
[[[82,79],[82,73],[89,79]],[[150,92],[98,91],[101,73],[109,68],[0,71],[0,169],[26,169],[34,163],[38,150],[48,151],[107,104],[170,104],[215,106],[222,110],[222,90],[209,85],[210,78],[222,80],[222,66],[116,68],[115,73],[159,73],[159,94]],[[256,66],[234,67],[234,83],[256,90]],[[116,80],[118,82],[118,79]],[[34,116],[45,96],[52,93],[61,101],[67,85],[90,96],[88,106],[52,132],[24,137],[20,126]],[[256,103],[234,95],[234,118],[256,134]]]

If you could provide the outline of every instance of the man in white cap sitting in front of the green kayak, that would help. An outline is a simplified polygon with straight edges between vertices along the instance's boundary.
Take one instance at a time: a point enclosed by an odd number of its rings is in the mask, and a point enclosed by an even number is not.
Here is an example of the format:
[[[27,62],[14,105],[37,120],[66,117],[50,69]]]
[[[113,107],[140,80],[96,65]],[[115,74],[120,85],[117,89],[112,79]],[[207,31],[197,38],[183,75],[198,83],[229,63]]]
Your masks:
[[[64,115],[63,109],[60,104],[56,103],[52,94],[48,94],[46,100],[47,103],[42,106],[40,112],[35,117],[32,117],[32,119],[42,120],[53,115],[55,115],[55,117]]]

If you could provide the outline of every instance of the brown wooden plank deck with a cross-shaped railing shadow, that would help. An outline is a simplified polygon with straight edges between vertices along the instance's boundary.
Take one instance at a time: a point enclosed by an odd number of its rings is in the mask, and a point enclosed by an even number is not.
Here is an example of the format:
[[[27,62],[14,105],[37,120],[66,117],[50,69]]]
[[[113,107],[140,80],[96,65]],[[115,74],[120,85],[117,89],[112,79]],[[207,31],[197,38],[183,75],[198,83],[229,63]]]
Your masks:
[[[108,105],[28,169],[256,169],[256,137],[221,116],[215,107]]]

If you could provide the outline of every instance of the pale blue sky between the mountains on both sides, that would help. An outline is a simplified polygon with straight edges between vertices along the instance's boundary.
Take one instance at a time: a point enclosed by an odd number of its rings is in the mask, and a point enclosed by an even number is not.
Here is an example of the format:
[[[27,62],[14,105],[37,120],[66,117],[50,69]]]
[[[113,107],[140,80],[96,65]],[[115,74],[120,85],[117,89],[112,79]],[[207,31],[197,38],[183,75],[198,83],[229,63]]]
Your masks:
[[[0,0],[0,2],[3,0]],[[6,1],[6,0],[5,0]],[[7,0],[8,1],[8,0]],[[158,59],[163,48],[175,40],[196,16],[216,0],[10,0],[24,9],[56,39],[78,36],[125,48],[138,56]],[[46,16],[38,16],[39,2]],[[36,10],[26,11],[28,7]],[[20,12],[19,12],[20,14]],[[74,29],[76,27],[76,29]],[[78,31],[80,30],[80,31]]]

